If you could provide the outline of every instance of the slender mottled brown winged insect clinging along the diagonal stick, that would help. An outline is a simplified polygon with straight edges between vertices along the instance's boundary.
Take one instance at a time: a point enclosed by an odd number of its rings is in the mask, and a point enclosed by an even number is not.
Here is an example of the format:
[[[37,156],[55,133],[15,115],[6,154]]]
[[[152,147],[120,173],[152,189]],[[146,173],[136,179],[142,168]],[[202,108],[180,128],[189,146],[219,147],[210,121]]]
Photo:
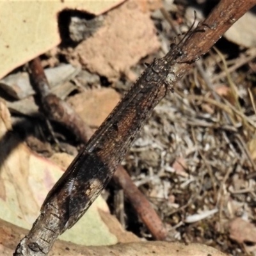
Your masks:
[[[155,106],[173,91],[175,64],[188,63],[183,48],[196,31],[192,30],[194,25],[195,21],[178,44],[170,45],[166,56],[148,64],[48,193],[40,216],[21,243],[35,250],[44,248],[47,254],[54,240],[71,228],[100,195]]]

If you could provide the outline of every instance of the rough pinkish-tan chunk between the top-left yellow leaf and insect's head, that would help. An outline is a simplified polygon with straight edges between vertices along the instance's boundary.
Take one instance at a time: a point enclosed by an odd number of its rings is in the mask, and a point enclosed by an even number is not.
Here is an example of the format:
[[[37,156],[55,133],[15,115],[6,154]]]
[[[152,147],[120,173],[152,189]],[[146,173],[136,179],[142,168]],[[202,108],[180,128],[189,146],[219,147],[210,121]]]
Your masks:
[[[115,81],[147,54],[156,52],[160,43],[149,13],[141,12],[136,1],[127,1],[108,12],[104,26],[79,44],[70,62]]]

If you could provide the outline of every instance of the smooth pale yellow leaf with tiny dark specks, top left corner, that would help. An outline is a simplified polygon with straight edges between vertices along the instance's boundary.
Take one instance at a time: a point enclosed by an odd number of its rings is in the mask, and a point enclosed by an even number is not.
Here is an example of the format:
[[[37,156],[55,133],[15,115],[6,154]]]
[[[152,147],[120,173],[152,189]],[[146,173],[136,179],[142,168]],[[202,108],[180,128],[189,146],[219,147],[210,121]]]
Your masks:
[[[124,0],[1,1],[0,78],[60,44],[58,13],[65,9],[99,15]]]

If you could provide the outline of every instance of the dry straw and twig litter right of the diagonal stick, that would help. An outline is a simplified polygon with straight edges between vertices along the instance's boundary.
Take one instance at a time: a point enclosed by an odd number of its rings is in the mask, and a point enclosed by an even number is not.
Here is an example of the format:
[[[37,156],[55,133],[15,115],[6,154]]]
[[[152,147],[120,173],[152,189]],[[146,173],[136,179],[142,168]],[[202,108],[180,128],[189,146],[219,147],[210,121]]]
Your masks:
[[[166,22],[159,16],[157,28]],[[158,31],[162,51],[169,42],[164,32]],[[156,107],[124,161],[172,230],[170,239],[208,244],[232,255],[255,253],[253,236],[246,236],[255,228],[256,199],[255,70],[250,68],[255,52],[248,51],[227,61],[228,54],[223,58],[212,49],[198,61]],[[248,226],[234,236],[240,224],[229,221],[244,216]]]

